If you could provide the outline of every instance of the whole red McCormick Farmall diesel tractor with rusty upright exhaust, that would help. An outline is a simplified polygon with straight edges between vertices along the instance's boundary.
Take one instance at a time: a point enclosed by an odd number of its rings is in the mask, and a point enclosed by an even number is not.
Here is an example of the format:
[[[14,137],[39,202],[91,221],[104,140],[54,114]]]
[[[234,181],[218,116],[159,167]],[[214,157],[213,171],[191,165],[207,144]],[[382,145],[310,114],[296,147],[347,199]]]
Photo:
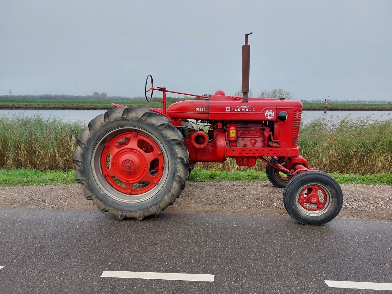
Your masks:
[[[224,162],[231,157],[240,166],[252,167],[259,159],[267,163],[270,182],[285,188],[283,202],[295,220],[321,225],[334,219],[343,203],[339,184],[310,168],[299,155],[302,103],[248,98],[248,35],[242,46],[242,97],[223,91],[206,97],[154,88],[149,75],[145,97],[150,101],[153,91],[161,91],[163,107],[114,105],[91,120],[73,157],[85,198],[119,220],[142,220],[174,203],[197,162]],[[166,93],[203,100],[166,108]],[[208,125],[208,131],[196,129],[195,123]]]

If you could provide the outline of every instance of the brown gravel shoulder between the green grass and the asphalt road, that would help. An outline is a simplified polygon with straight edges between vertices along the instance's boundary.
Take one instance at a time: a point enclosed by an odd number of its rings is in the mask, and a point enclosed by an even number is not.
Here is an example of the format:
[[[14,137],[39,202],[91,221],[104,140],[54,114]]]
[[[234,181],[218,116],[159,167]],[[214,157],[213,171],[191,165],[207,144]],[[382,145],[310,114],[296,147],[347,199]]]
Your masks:
[[[392,220],[388,185],[342,184],[344,203],[339,218]],[[219,214],[288,215],[283,189],[269,182],[187,182],[167,211]],[[0,208],[96,209],[79,184],[0,186]]]

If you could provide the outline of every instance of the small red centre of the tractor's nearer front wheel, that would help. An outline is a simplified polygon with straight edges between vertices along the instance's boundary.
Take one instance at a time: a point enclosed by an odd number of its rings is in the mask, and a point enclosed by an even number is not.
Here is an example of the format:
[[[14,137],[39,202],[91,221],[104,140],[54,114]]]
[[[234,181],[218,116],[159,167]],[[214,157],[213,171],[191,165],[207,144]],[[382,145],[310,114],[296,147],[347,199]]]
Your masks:
[[[298,203],[308,211],[324,209],[327,194],[318,185],[310,185],[299,193]]]

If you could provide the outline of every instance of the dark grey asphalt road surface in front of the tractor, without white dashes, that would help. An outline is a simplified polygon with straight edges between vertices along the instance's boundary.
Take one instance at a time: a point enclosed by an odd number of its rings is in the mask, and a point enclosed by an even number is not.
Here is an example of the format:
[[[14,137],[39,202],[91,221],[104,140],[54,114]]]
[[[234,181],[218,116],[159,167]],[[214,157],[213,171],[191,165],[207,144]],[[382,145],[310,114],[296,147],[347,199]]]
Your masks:
[[[163,212],[0,210],[0,293],[389,293],[392,222]],[[101,277],[104,270],[212,274],[214,281]],[[391,292],[392,293],[392,292]]]

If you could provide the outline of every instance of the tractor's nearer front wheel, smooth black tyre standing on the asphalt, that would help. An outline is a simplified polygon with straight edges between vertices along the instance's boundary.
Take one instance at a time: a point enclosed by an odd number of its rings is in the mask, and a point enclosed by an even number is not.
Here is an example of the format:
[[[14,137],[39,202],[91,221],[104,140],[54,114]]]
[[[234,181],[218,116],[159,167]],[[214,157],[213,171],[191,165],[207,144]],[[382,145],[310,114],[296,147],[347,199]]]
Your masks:
[[[321,171],[301,172],[283,191],[283,203],[294,220],[305,225],[323,225],[333,220],[343,205],[339,183]]]

